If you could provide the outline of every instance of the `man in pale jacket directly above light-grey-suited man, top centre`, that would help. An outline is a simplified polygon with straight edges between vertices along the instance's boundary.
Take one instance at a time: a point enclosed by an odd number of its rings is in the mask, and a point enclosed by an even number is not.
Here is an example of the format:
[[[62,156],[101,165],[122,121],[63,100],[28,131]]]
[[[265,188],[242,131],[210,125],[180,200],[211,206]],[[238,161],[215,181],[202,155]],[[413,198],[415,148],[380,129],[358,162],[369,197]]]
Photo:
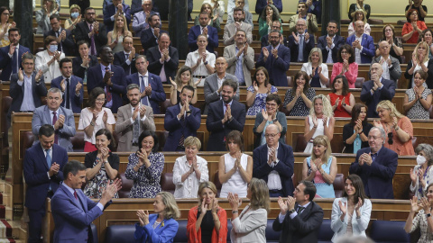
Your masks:
[[[235,23],[226,24],[226,27],[224,27],[224,44],[226,46],[234,44],[236,32],[239,30],[245,31],[246,42],[251,44],[253,41],[253,26],[249,23],[244,23],[244,9],[235,7],[233,17],[235,18]]]

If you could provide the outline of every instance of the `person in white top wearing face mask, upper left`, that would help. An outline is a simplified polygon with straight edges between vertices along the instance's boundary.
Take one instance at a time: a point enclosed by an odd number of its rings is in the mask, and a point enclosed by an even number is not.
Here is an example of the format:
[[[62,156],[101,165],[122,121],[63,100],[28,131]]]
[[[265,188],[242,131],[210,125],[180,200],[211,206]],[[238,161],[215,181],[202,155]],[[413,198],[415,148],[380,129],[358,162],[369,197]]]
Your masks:
[[[45,50],[36,53],[36,71],[42,70],[45,83],[51,83],[52,79],[61,76],[59,62],[65,58],[65,53],[57,50],[59,43],[54,36],[47,36],[43,42]]]

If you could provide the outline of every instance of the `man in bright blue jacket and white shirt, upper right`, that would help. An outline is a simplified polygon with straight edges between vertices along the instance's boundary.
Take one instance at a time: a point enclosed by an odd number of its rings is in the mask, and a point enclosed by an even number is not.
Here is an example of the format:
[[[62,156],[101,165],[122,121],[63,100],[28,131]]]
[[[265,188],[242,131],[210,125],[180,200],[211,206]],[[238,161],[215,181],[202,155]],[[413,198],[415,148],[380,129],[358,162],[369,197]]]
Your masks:
[[[345,42],[355,49],[355,62],[357,64],[372,63],[374,52],[376,51],[373,37],[364,34],[364,22],[355,22],[355,34],[347,37]]]

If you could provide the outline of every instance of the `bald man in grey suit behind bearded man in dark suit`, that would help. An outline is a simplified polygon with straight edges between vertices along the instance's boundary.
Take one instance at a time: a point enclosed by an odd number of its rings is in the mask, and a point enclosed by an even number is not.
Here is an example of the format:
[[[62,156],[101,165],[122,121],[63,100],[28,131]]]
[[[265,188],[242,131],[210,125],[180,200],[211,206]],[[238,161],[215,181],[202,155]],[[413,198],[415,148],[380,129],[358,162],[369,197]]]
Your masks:
[[[226,58],[219,57],[215,61],[215,71],[216,73],[211,74],[206,77],[205,79],[205,86],[204,86],[204,92],[205,92],[205,112],[204,114],[207,114],[207,110],[209,109],[209,103],[213,103],[217,100],[221,100],[221,91],[223,89],[223,82],[226,79],[232,79],[236,83],[238,82],[237,77],[233,76],[231,74],[226,73],[227,69],[227,61]],[[237,85],[236,94],[233,97],[236,101],[239,100],[239,85]]]

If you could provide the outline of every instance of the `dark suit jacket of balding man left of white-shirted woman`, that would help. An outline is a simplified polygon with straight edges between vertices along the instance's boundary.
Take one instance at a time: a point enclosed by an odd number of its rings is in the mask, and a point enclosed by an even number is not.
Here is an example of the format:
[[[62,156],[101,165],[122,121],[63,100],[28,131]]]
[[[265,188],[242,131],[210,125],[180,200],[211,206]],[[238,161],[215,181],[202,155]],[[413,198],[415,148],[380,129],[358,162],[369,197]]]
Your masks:
[[[170,78],[174,80],[179,66],[179,52],[178,49],[169,46],[170,60],[164,61],[164,72],[167,77],[167,84],[170,84]],[[161,74],[162,64],[160,62],[161,52],[158,46],[147,49],[146,58],[149,61],[147,69],[152,74]]]

